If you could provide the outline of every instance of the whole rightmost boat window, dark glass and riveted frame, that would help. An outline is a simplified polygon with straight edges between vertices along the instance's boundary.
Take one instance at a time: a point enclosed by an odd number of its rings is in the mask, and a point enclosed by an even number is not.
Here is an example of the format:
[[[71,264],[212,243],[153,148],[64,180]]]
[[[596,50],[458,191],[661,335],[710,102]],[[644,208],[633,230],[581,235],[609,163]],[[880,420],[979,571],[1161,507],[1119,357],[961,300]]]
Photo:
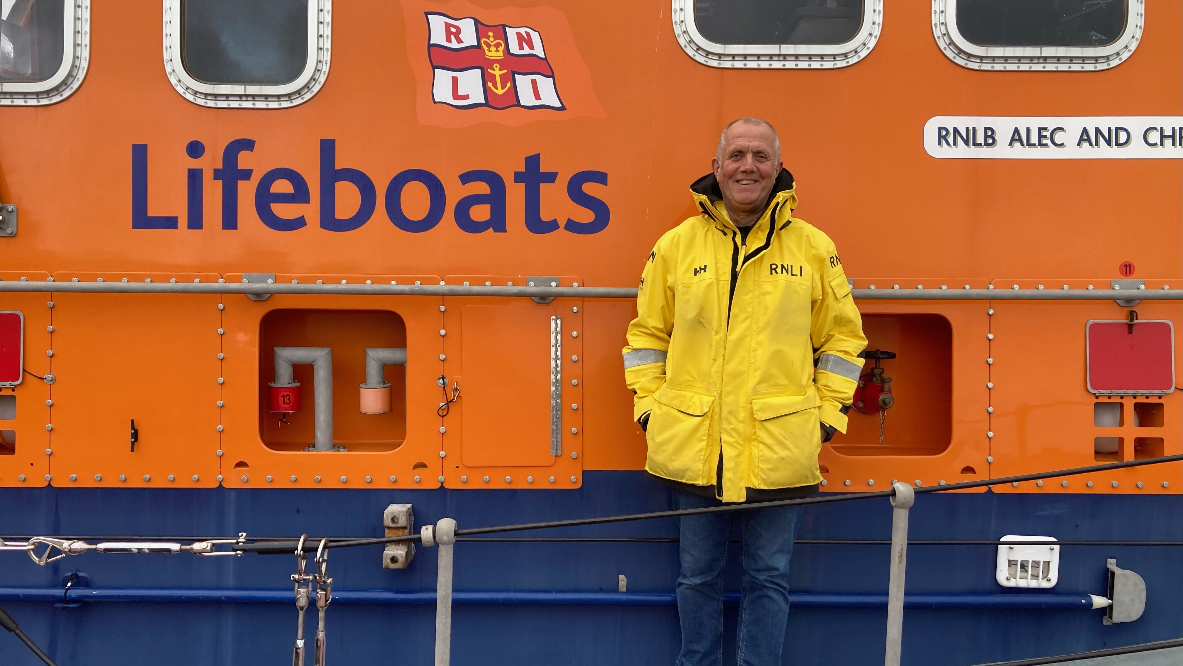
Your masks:
[[[946,56],[981,70],[1091,71],[1130,56],[1144,0],[933,0]]]

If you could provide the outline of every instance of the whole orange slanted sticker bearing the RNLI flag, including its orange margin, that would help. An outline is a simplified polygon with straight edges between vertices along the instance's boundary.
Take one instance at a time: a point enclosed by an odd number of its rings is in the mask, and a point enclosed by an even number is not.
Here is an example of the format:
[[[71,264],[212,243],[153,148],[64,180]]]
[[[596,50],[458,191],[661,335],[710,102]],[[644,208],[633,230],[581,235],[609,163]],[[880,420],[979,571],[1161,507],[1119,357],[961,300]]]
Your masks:
[[[465,0],[402,0],[402,6],[407,51],[424,65],[414,66],[420,123],[459,128],[603,117],[590,72],[558,9],[490,9]]]

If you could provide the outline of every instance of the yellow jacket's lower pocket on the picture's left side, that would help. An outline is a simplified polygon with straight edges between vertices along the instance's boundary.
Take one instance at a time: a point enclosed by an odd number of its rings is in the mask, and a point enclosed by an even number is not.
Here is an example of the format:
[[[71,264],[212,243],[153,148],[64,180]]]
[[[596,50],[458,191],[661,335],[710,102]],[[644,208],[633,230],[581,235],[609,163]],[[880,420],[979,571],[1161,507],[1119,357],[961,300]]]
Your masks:
[[[653,394],[645,468],[675,481],[705,485],[703,460],[711,432],[715,395],[662,386]]]

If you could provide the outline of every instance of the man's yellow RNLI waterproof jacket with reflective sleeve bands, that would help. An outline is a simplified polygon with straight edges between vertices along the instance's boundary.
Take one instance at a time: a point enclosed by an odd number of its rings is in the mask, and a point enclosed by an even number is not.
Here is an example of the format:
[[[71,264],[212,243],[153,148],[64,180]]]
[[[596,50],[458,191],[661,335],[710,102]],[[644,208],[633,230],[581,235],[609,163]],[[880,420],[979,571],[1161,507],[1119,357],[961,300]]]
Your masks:
[[[628,325],[633,416],[649,414],[646,471],[713,485],[724,502],[820,483],[819,422],[846,432],[862,369],[867,340],[842,263],[829,237],[793,218],[794,188],[782,170],[743,244],[715,176],[691,186],[702,214],[653,247]]]

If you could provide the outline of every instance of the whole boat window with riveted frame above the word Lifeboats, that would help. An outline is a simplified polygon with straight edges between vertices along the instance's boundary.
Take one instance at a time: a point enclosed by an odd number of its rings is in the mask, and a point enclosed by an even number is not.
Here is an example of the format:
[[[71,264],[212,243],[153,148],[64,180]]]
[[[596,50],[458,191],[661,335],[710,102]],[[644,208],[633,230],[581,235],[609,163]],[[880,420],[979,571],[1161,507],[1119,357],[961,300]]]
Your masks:
[[[331,0],[166,0],[164,63],[206,106],[283,108],[319,90]]]

